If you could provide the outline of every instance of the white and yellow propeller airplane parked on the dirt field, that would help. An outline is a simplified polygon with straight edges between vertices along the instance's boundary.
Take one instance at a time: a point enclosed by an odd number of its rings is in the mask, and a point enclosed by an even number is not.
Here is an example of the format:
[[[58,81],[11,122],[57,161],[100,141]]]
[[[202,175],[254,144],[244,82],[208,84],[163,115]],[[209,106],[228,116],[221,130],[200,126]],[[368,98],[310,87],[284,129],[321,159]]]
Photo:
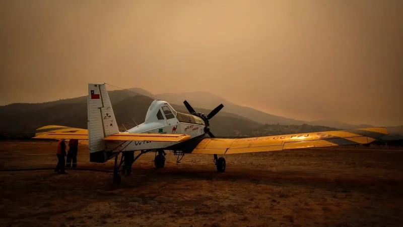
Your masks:
[[[113,183],[120,184],[118,155],[127,151],[140,151],[135,161],[144,153],[156,152],[156,168],[165,165],[165,150],[178,155],[213,156],[217,172],[224,173],[226,162],[218,155],[281,151],[311,147],[369,144],[388,132],[386,128],[363,128],[329,132],[298,133],[251,138],[216,138],[210,130],[210,120],[224,107],[220,104],[208,115],[197,113],[185,100],[189,113],[176,111],[168,102],[154,100],[146,114],[145,122],[125,132],[120,132],[113,113],[105,83],[88,84],[88,129],[48,125],[38,128],[33,139],[77,139],[88,145],[90,162],[103,163],[115,158]],[[210,138],[206,138],[209,135]],[[181,157],[179,159],[179,157]]]

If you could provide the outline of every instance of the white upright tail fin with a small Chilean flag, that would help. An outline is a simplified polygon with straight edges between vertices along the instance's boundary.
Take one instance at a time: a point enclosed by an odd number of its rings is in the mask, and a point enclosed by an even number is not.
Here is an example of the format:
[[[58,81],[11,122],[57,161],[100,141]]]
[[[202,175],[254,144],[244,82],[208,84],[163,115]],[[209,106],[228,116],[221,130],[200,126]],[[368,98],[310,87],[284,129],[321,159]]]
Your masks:
[[[88,84],[87,111],[90,161],[105,162],[110,154],[105,153],[102,139],[119,133],[105,84]]]

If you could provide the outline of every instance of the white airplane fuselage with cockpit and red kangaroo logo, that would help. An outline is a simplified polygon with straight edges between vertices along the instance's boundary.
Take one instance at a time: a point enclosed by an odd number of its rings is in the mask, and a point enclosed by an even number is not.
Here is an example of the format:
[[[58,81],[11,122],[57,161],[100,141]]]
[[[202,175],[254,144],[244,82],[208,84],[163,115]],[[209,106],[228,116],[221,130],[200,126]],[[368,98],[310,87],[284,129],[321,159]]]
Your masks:
[[[176,112],[169,103],[155,100],[147,112],[146,121],[126,133],[187,134],[195,138],[204,135],[204,129],[205,123],[201,118]],[[114,152],[137,151],[169,147],[177,143],[180,142],[126,141],[118,149],[116,143],[107,143],[107,147],[114,149]]]

